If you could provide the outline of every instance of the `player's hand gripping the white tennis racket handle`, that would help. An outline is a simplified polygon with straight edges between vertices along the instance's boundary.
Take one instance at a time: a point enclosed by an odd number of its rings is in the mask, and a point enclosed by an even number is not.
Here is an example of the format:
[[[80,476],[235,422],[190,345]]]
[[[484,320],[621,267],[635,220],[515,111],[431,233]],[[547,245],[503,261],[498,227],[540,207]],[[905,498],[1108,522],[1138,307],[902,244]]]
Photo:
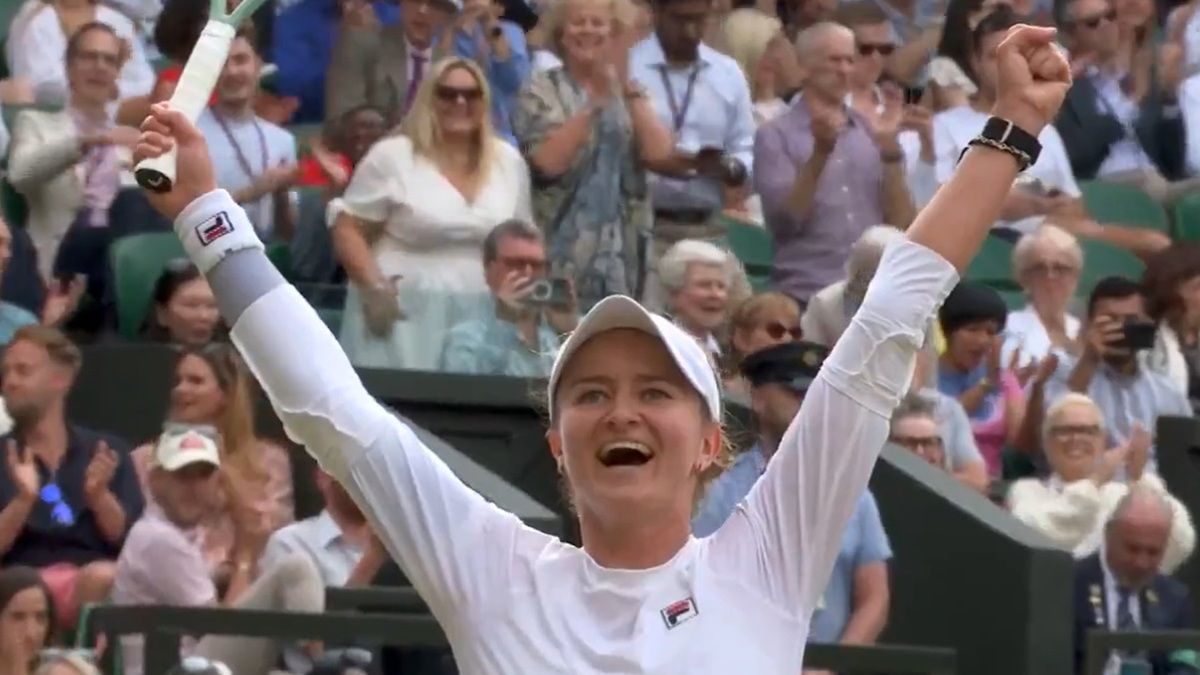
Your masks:
[[[150,117],[142,123],[142,136],[133,151],[133,160],[158,157],[179,148],[175,160],[175,183],[169,192],[145,191],[146,199],[162,215],[175,220],[197,197],[216,190],[217,183],[209,160],[209,148],[204,135],[190,123],[184,113],[168,103],[150,107]]]

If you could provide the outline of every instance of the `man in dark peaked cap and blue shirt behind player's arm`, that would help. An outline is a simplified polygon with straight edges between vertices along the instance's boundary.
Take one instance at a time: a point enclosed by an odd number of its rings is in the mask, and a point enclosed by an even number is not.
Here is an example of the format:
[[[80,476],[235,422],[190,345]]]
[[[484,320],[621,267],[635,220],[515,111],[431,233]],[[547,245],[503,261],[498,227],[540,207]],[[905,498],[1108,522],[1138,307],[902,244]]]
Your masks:
[[[804,393],[816,380],[829,350],[812,342],[786,342],[760,350],[742,362],[750,382],[750,406],[758,438],[708,488],[692,519],[692,533],[707,537],[728,518],[766,471],[788,424],[800,411]],[[887,561],[892,546],[870,491],[863,494],[842,534],[841,550],[824,596],[812,615],[812,643],[872,644],[887,625]],[[815,675],[815,674],[812,674]]]

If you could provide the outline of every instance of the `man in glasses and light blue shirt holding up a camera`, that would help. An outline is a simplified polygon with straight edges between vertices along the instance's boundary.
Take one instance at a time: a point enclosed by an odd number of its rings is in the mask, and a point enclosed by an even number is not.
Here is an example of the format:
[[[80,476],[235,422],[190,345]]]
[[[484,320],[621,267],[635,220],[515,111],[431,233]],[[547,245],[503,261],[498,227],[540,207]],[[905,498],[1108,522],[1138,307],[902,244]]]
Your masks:
[[[479,317],[450,329],[442,348],[442,369],[548,376],[558,354],[558,336],[578,323],[578,303],[574,292],[559,298],[562,301],[534,298],[534,286],[546,281],[545,273],[546,246],[535,225],[509,220],[496,226],[484,239],[484,277],[492,301]]]

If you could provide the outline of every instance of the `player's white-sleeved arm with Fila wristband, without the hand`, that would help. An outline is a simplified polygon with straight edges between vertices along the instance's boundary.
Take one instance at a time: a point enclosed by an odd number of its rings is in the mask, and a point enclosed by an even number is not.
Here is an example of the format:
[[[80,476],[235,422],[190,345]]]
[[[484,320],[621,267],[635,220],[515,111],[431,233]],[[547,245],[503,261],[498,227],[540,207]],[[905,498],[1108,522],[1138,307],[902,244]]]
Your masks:
[[[504,563],[529,531],[460,482],[367,393],[229,193],[196,199],[175,231],[288,436],[354,497],[434,615],[452,619],[464,602],[503,589]]]

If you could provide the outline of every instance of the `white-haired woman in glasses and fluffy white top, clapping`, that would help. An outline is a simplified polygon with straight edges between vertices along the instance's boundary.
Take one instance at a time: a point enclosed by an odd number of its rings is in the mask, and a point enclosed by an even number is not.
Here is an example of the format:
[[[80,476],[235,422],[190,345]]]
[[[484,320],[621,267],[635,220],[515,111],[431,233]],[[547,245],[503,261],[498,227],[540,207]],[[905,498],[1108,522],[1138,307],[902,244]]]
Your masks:
[[[1162,478],[1147,470],[1148,431],[1139,428],[1124,446],[1105,450],[1100,408],[1086,395],[1070,393],[1046,411],[1042,436],[1051,473],[1013,484],[1008,509],[1018,520],[1075,557],[1086,557],[1099,548],[1104,522],[1129,485],[1138,485],[1163,495],[1171,504],[1171,536],[1162,572],[1171,574],[1192,555],[1192,516],[1166,491]]]

